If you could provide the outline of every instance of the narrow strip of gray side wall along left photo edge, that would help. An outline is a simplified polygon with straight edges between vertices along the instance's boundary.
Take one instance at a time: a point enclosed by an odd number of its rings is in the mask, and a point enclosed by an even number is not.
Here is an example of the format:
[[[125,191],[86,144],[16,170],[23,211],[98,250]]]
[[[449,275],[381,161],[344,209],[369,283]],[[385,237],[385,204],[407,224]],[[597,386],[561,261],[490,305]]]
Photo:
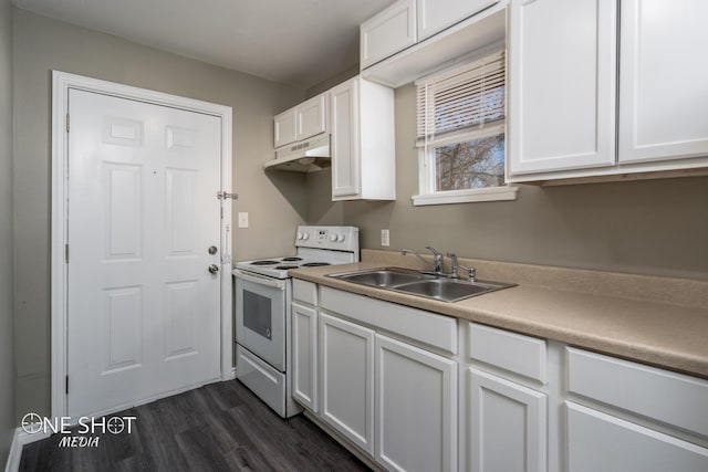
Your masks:
[[[0,469],[15,426],[12,346],[12,7],[0,0]]]

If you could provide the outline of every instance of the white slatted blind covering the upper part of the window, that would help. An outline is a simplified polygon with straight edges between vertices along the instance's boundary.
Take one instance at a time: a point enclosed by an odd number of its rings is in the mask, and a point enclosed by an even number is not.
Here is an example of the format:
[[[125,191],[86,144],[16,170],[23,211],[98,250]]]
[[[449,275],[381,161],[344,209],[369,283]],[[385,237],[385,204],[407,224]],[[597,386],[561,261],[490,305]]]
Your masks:
[[[504,119],[504,52],[416,82],[418,146]]]

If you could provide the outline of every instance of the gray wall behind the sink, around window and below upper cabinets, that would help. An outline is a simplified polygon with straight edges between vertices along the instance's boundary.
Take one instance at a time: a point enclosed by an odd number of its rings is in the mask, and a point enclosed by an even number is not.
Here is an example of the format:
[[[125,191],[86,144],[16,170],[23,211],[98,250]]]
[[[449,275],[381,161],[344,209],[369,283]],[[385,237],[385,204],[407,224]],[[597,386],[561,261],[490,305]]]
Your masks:
[[[708,279],[708,177],[538,188],[517,201],[413,207],[415,88],[396,90],[395,202],[332,203],[331,174],[309,180],[309,222],[354,224],[362,247],[433,244],[459,255]]]

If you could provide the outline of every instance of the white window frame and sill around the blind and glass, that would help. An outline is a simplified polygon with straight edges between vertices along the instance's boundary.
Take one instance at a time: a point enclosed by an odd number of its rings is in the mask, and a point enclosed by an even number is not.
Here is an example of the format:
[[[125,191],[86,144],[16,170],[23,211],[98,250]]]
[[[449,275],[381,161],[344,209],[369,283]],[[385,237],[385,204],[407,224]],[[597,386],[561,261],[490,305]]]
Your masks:
[[[473,59],[469,59],[465,62],[455,64],[451,67],[436,72],[427,77],[423,77],[416,81],[416,86],[425,84],[430,81],[436,81],[438,77],[448,76],[452,71],[461,71],[465,69],[475,67],[480,61],[485,61],[488,56],[506,51],[503,45],[493,45],[479,52]],[[506,59],[504,59],[506,60]],[[506,94],[506,78],[504,75],[504,94]],[[416,93],[417,95],[417,93]],[[419,101],[416,97],[416,117],[420,116],[420,109],[418,107]],[[426,111],[426,114],[429,113]],[[504,113],[506,115],[506,113]],[[418,126],[418,125],[416,125]],[[425,136],[425,143],[420,145],[418,133],[416,133],[416,148],[418,149],[418,193],[412,196],[413,204],[427,206],[427,204],[447,204],[447,203],[468,203],[468,202],[481,202],[481,201],[503,201],[516,200],[519,188],[513,183],[504,183],[498,187],[485,187],[476,189],[464,190],[437,190],[436,189],[436,148],[456,143],[462,143],[467,140],[483,138],[497,134],[504,134],[504,179],[507,167],[507,126],[506,116],[502,119],[494,122],[482,123],[475,125],[468,129],[461,129],[448,134],[433,137],[429,139]]]

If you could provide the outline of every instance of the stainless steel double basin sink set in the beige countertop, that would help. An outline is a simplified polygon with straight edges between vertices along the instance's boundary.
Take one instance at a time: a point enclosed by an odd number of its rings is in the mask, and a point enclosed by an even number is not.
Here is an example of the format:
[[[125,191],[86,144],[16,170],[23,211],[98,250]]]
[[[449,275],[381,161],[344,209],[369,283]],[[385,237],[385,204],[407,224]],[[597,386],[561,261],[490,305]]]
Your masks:
[[[392,290],[442,302],[458,302],[470,296],[482,295],[516,285],[502,282],[472,282],[400,268],[363,270],[330,274],[329,276],[360,285]]]

